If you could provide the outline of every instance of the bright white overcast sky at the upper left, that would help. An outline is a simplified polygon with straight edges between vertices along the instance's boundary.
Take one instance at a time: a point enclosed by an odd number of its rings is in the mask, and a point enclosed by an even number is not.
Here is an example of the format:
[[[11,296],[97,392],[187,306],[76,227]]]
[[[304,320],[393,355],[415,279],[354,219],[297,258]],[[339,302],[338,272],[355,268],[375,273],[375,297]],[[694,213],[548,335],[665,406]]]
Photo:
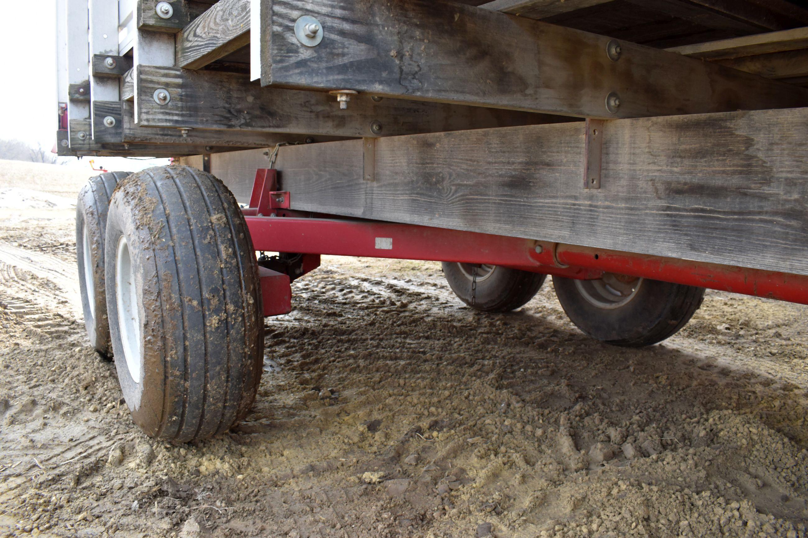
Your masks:
[[[56,140],[56,0],[0,0],[0,138]]]

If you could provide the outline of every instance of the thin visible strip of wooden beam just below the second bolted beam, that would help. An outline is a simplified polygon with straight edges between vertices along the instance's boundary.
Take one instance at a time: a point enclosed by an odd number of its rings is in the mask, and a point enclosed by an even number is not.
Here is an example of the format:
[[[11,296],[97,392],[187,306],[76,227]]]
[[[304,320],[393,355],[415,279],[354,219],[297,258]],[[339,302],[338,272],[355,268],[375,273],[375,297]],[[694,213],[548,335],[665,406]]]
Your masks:
[[[344,140],[336,136],[284,135],[252,131],[208,131],[191,129],[183,131],[168,127],[138,127],[135,124],[134,103],[123,103],[122,142],[132,144],[190,144],[196,146],[216,146],[219,148],[271,148],[276,144],[313,144]]]

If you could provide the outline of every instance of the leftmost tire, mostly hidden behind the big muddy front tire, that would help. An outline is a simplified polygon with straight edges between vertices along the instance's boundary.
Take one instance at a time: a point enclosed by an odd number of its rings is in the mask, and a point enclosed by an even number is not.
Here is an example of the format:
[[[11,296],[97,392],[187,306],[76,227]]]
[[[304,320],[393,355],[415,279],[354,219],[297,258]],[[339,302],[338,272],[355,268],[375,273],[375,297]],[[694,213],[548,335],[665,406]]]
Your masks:
[[[130,172],[107,172],[90,177],[76,203],[76,255],[78,286],[82,294],[84,324],[90,344],[104,357],[112,357],[104,287],[104,235],[112,191]]]

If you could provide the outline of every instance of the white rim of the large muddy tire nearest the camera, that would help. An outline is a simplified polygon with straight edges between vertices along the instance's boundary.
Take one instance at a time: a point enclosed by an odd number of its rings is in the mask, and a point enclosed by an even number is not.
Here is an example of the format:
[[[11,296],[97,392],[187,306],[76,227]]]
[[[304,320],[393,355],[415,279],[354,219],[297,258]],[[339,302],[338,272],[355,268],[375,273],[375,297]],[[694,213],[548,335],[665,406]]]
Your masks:
[[[115,261],[115,295],[118,303],[118,327],[124,348],[124,358],[129,375],[134,382],[141,382],[141,318],[137,308],[135,273],[129,245],[124,236],[118,240]]]

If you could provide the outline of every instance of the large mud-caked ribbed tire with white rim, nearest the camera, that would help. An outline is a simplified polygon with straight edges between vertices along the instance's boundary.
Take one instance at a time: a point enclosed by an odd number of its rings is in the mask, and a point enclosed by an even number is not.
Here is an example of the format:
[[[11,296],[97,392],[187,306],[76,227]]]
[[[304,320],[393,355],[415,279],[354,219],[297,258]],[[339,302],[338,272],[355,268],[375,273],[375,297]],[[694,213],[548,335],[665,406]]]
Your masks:
[[[263,365],[258,265],[233,194],[185,166],[122,181],[107,216],[107,310],[124,398],[175,442],[226,432]]]

